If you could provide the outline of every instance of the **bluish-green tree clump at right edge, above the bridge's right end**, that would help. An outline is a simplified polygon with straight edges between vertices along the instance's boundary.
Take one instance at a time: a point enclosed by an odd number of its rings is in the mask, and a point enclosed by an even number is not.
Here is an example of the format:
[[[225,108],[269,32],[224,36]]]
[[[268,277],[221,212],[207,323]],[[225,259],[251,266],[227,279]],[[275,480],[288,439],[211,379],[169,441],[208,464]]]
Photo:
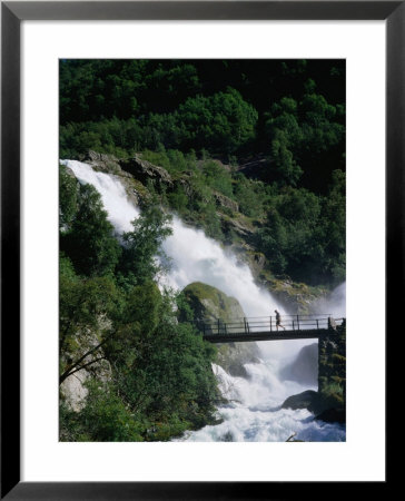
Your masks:
[[[342,282],[345,276],[343,183],[342,173],[336,173],[327,197],[288,188],[273,198],[266,226],[257,233],[258,248],[268,258],[270,269],[313,284]]]

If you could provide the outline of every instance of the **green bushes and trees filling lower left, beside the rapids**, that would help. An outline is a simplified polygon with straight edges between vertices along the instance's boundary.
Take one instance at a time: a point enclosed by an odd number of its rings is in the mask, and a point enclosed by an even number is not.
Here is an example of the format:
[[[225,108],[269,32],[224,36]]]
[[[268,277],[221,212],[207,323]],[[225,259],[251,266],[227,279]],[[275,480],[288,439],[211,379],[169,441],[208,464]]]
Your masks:
[[[161,441],[213,422],[215,348],[178,323],[174,301],[154,283],[126,294],[116,332],[103,344],[112,380],[89,381],[79,413],[62,402],[62,440]]]

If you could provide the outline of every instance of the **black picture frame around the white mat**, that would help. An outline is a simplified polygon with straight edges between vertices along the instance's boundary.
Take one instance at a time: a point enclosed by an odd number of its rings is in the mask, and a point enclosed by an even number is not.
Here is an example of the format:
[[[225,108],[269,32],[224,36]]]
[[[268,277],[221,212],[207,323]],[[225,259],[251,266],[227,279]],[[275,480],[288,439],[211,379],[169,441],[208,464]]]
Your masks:
[[[225,500],[324,497],[332,482],[20,481],[20,23],[23,20],[385,20],[386,340],[404,304],[405,1],[1,2],[1,499]],[[395,335],[395,332],[392,332]],[[388,347],[388,346],[387,346]],[[386,385],[387,391],[389,384]],[[372,482],[384,495],[389,480]],[[364,484],[356,485],[364,493]],[[391,485],[391,483],[389,483]],[[346,482],[334,482],[342,494]]]

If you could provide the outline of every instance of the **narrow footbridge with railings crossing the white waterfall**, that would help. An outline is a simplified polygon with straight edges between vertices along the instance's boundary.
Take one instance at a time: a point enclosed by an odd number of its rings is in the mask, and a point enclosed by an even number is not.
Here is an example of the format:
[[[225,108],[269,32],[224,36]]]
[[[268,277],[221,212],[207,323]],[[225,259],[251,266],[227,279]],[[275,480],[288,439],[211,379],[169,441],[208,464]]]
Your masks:
[[[345,318],[322,315],[283,315],[280,325],[275,316],[235,318],[231,322],[196,322],[204,340],[211,343],[248,341],[284,341],[319,338],[342,325]]]

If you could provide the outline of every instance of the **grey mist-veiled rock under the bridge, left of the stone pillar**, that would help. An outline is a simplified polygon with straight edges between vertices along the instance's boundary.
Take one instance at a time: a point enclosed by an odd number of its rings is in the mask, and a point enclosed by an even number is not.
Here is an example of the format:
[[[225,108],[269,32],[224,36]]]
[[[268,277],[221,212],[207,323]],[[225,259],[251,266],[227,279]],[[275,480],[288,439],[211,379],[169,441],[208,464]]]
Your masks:
[[[317,386],[318,384],[318,344],[304,346],[295,361],[280,372],[284,380],[297,381],[302,384]]]

